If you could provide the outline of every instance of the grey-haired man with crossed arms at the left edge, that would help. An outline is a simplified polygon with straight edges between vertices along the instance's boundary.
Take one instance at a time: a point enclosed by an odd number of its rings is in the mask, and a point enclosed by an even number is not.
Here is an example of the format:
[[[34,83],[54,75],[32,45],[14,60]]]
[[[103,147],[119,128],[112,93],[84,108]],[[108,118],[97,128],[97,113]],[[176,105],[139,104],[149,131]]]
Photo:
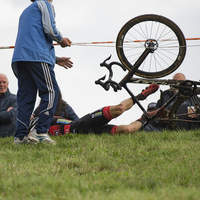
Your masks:
[[[0,74],[0,137],[14,136],[17,120],[17,97],[8,89],[8,78]]]

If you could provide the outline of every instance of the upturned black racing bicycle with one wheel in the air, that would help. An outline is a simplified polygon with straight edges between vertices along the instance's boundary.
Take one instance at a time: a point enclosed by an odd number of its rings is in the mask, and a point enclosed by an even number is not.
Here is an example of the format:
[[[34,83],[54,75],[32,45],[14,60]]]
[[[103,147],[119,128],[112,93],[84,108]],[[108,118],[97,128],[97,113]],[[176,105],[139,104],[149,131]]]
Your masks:
[[[149,31],[149,32],[148,32]],[[148,120],[144,124],[146,126],[152,120],[167,121],[170,128],[180,130],[181,123],[189,123],[190,125],[200,124],[200,82],[198,81],[175,81],[175,80],[159,80],[155,78],[164,77],[175,71],[183,62],[186,53],[185,37],[181,29],[170,19],[160,15],[141,15],[128,21],[119,31],[116,40],[116,51],[119,62],[104,60],[100,66],[109,70],[108,80],[103,82],[106,76],[95,81],[95,84],[101,85],[105,90],[113,88],[115,92],[124,88],[131,98],[140,107]],[[120,66],[128,73],[120,82],[112,80],[112,66]],[[142,66],[142,67],[141,67]],[[140,67],[140,69],[139,69]],[[138,75],[140,78],[133,78]],[[135,98],[134,94],[128,88],[128,83],[146,83],[170,85],[179,90],[171,99],[169,99],[157,113],[149,116],[144,107]],[[185,104],[185,113],[179,114],[179,108]],[[171,110],[167,116],[156,116],[166,107],[173,103]]]

